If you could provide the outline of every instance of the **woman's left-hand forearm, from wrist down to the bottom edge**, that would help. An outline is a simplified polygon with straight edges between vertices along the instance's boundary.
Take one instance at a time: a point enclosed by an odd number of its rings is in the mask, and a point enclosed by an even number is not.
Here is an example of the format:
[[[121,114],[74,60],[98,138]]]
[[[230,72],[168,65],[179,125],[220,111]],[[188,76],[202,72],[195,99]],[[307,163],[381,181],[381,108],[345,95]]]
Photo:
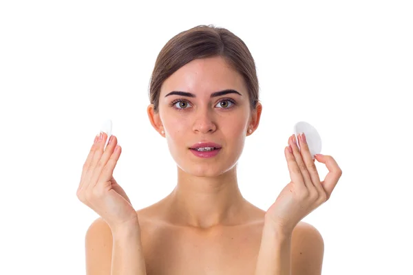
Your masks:
[[[146,275],[138,224],[112,232],[112,275]]]

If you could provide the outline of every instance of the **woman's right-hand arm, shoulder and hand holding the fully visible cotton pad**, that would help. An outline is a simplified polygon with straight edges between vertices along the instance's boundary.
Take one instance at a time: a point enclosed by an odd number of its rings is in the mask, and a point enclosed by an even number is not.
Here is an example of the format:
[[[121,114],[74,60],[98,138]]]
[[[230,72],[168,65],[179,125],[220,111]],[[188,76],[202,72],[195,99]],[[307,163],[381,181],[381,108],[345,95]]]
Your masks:
[[[301,219],[330,198],[342,172],[330,155],[317,154],[315,159],[328,168],[320,181],[306,135],[299,134],[298,140],[301,148],[295,135],[284,148],[291,181],[266,211],[255,275],[321,274],[323,238]]]

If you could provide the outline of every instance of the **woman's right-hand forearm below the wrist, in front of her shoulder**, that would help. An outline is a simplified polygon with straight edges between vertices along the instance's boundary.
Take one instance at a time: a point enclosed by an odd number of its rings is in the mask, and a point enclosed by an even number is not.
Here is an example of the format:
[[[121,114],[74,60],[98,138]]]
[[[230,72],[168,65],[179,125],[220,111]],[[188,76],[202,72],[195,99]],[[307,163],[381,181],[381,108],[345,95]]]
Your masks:
[[[272,223],[264,223],[255,275],[291,274],[291,236]]]

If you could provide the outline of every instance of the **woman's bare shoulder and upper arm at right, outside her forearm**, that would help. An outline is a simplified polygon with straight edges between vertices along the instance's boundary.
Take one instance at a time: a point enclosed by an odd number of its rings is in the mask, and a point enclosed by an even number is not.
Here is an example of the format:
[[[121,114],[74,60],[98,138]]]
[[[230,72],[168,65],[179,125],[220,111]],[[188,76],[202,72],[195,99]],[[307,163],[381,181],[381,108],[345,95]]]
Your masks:
[[[292,274],[321,274],[324,239],[314,225],[300,221],[291,239]]]

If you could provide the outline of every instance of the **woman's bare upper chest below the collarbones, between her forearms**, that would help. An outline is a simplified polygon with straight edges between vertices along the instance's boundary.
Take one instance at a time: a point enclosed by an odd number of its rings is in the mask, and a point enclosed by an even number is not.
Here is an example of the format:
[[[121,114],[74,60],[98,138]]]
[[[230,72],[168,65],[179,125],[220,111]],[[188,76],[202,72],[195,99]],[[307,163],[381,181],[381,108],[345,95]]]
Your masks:
[[[199,232],[188,228],[145,229],[142,245],[147,274],[253,274],[262,226]]]

